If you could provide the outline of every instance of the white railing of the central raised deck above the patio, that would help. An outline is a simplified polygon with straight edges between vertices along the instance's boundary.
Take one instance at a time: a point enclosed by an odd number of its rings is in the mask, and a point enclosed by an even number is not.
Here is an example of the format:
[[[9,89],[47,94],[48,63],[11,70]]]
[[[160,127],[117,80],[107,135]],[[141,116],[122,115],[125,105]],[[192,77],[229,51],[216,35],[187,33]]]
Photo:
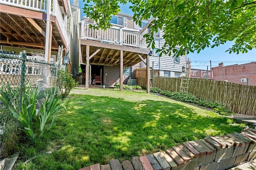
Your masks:
[[[108,28],[106,30],[96,30],[94,28],[90,28],[90,24],[92,23],[82,21],[82,39],[96,40],[104,43],[114,43],[117,45],[128,45],[133,47],[147,48],[146,38],[143,37],[143,34],[127,31],[123,28]]]

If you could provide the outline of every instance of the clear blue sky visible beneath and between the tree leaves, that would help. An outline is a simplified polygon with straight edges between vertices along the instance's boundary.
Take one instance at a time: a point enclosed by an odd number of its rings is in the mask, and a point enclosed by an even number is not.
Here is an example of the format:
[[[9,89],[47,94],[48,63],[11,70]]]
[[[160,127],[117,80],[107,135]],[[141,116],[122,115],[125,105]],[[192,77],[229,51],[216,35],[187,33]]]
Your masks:
[[[81,9],[81,18],[84,16],[82,8],[84,7],[83,0],[78,1],[78,6]],[[71,0],[73,4],[73,0]],[[130,10],[128,3],[126,5],[120,5],[121,12],[125,14],[133,15],[132,10]],[[225,52],[229,47],[231,47],[234,42],[227,42],[223,45],[214,48],[205,48],[201,50],[200,53],[189,53],[187,58],[191,61],[191,66],[194,69],[210,69],[210,60],[212,61],[212,67],[217,67],[218,63],[223,62],[224,66],[233,64],[243,64],[256,61],[256,49],[249,50],[248,53],[228,53]]]

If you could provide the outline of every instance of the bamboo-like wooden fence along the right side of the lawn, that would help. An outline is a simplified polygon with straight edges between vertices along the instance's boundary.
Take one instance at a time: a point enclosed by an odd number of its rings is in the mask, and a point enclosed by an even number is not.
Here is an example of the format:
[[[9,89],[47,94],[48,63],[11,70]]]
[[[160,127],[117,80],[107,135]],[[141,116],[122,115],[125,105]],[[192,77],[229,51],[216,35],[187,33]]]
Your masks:
[[[154,76],[152,86],[161,90],[179,91],[180,81],[181,78]],[[206,101],[222,103],[236,113],[256,116],[256,86],[190,78],[188,93]]]

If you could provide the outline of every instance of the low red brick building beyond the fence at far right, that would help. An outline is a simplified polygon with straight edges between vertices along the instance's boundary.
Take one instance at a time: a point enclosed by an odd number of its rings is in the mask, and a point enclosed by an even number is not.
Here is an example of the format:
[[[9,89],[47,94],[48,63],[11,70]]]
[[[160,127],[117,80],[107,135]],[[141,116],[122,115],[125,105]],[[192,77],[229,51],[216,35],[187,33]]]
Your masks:
[[[220,63],[218,67],[212,67],[213,79],[223,80],[232,83],[238,83],[256,86],[256,62],[224,66]],[[249,79],[248,79],[249,78]]]

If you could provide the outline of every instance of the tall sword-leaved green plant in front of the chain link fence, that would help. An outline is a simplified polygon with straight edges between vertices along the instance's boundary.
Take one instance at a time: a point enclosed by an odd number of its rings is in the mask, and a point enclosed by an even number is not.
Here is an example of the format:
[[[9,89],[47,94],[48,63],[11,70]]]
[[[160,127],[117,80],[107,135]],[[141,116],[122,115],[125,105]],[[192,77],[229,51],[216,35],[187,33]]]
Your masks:
[[[14,111],[10,108],[13,116],[18,120],[20,124],[20,129],[24,131],[28,139],[35,141],[37,132],[40,132],[39,138],[47,132],[57,119],[58,111],[60,110],[60,103],[58,100],[61,96],[55,98],[55,88],[50,92],[46,92],[46,98],[44,102],[41,103],[40,109],[36,109],[37,103],[37,88],[34,90],[31,87],[26,89],[24,87],[24,92],[22,96],[22,107],[20,111]],[[40,115],[37,117],[38,112]],[[46,129],[45,125],[47,120],[52,117],[52,122]],[[39,123],[38,123],[38,119]]]

